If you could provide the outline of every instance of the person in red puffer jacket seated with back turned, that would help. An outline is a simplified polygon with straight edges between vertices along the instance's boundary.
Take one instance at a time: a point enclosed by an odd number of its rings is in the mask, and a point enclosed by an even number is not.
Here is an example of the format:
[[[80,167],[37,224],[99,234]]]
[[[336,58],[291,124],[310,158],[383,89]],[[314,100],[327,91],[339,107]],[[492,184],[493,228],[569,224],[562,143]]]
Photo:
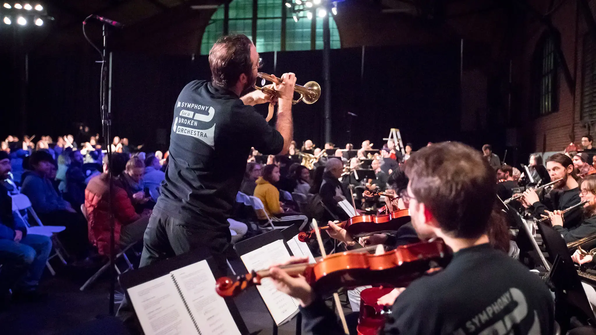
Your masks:
[[[154,156],[151,156],[155,158]],[[85,189],[85,209],[89,221],[89,240],[97,247],[100,255],[110,255],[110,217],[108,216],[108,170],[112,175],[118,175],[125,169],[126,154],[112,154],[111,166],[108,166],[107,156],[103,160],[103,173],[89,181]],[[136,241],[141,241],[151,210],[145,210],[141,215],[135,212],[131,199],[126,190],[118,183],[113,185],[113,213],[114,213],[114,242],[120,248]]]

